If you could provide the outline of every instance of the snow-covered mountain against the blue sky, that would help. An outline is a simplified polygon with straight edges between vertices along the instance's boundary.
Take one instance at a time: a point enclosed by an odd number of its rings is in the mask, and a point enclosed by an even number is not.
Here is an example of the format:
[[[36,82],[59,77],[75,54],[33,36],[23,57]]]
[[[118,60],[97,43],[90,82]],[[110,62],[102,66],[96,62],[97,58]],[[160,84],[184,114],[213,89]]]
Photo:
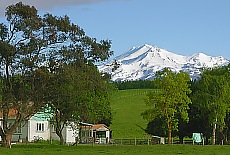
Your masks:
[[[118,64],[116,70],[115,63]],[[110,73],[113,81],[153,79],[156,71],[165,67],[175,72],[185,71],[192,79],[196,79],[203,67],[228,63],[229,61],[221,56],[211,57],[203,53],[182,56],[155,46],[143,45],[134,47],[113,61],[99,66],[99,70]]]

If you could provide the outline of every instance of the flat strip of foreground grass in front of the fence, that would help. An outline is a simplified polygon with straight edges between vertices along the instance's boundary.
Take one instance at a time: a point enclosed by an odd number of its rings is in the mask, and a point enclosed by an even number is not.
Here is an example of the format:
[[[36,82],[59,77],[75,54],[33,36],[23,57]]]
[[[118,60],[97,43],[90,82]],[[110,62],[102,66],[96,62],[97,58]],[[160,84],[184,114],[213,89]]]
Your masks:
[[[230,146],[201,146],[201,145],[14,145],[11,149],[0,148],[0,155],[227,155]]]

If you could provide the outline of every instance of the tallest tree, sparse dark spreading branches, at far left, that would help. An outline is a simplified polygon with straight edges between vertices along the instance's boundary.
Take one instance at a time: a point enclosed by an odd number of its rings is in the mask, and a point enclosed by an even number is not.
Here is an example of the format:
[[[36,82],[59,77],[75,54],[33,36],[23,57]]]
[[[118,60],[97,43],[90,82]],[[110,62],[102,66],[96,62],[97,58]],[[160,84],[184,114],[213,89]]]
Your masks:
[[[2,70],[2,145],[9,146],[17,126],[38,112],[47,102],[47,86],[56,65],[81,60],[106,60],[111,42],[85,35],[68,16],[39,16],[33,6],[19,2],[6,8],[6,23],[0,23],[0,63]],[[87,61],[86,61],[87,60]],[[8,125],[9,110],[16,119]]]

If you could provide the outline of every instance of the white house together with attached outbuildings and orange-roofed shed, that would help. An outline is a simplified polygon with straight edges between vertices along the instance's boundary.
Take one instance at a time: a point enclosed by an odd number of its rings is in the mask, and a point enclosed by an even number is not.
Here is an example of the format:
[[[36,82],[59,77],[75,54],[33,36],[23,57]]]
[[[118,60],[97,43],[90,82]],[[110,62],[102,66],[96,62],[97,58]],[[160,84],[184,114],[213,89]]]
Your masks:
[[[14,121],[16,110],[10,110],[9,123]],[[2,114],[0,113],[0,127]],[[55,125],[51,123],[52,113],[39,112],[31,117],[28,121],[22,122],[12,136],[13,142],[33,142],[36,140],[59,140],[55,132]],[[76,137],[80,138],[79,142],[89,143],[94,138],[96,143],[107,143],[111,138],[111,130],[104,124],[87,124],[78,125],[74,122],[68,123],[62,131],[65,143],[75,143]],[[0,137],[1,141],[1,137]]]

